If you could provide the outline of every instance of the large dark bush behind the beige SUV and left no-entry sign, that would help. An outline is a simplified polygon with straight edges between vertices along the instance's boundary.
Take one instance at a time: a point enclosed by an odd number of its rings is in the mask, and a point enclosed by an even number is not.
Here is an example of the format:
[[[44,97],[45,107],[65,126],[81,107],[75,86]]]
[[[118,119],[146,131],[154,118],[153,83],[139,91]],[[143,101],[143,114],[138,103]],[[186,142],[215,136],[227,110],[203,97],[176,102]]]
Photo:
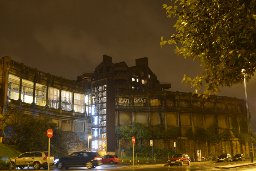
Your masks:
[[[15,137],[20,148],[25,151],[48,151],[49,138],[46,132],[48,129],[52,129],[53,137],[50,139],[50,151],[57,158],[68,155],[65,135],[49,116],[34,118],[31,115],[26,115],[21,122],[23,124],[17,129],[17,136]]]

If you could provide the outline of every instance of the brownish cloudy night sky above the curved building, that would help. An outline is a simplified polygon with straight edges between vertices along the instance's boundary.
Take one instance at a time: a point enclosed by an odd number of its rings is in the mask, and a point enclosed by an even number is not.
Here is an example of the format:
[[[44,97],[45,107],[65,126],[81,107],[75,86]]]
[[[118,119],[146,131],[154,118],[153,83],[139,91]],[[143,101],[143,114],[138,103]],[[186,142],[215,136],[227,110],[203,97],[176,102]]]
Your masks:
[[[181,84],[183,75],[196,77],[200,63],[174,53],[175,45],[160,48],[160,38],[177,34],[176,18],[167,19],[163,4],[170,0],[1,0],[0,57],[63,78],[76,80],[94,71],[102,55],[113,63],[148,57],[160,82],[171,91],[194,92]],[[256,79],[247,86],[252,129],[256,132]],[[203,90],[203,88],[201,89]],[[244,85],[222,88],[220,96],[245,99]]]

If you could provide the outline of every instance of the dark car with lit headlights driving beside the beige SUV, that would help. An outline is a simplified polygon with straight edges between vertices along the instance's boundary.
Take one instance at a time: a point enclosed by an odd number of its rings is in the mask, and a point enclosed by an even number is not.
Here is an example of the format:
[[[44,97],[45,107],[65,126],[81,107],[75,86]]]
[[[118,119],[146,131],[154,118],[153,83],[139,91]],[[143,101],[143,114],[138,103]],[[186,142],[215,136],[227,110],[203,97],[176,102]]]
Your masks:
[[[101,157],[98,152],[93,151],[79,151],[70,154],[68,157],[55,160],[55,165],[59,169],[63,167],[68,169],[69,167],[87,167],[95,168],[102,164]]]

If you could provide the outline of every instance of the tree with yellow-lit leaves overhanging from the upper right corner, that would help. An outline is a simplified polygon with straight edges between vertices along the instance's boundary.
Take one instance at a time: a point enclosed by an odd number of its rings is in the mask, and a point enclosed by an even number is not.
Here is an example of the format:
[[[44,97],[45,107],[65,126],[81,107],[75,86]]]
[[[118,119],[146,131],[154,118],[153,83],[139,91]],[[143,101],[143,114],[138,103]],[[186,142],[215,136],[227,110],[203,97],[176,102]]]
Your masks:
[[[178,6],[163,7],[167,17],[177,17],[174,25],[178,34],[165,43],[182,43],[175,53],[198,59],[204,70],[194,79],[184,75],[185,86],[200,89],[205,82],[203,95],[220,92],[221,86],[247,81],[256,67],[256,1],[255,0],[176,0]],[[196,93],[197,93],[196,89]]]

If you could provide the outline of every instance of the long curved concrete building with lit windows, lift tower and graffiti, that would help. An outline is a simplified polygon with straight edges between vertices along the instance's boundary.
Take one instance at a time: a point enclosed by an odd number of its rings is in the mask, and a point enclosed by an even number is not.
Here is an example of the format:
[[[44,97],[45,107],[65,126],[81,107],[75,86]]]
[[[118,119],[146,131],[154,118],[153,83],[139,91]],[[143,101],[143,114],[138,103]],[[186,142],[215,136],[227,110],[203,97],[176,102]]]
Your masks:
[[[136,65],[128,67],[125,62],[112,63],[112,58],[104,55],[93,72],[84,72],[77,81],[30,68],[9,56],[0,60],[0,68],[2,112],[11,105],[33,116],[49,114],[66,132],[70,152],[88,148],[89,135],[93,151],[118,152],[127,144],[115,139],[115,125],[141,122],[151,129],[177,128],[182,149],[188,129],[194,132],[216,125],[220,131],[228,129],[232,133],[236,128],[240,132],[239,122],[246,119],[244,99],[216,95],[202,99],[168,90],[171,83],[157,80],[147,57],[136,59]],[[236,138],[227,144],[206,151],[249,151],[248,143]],[[196,145],[191,151],[195,150]]]

